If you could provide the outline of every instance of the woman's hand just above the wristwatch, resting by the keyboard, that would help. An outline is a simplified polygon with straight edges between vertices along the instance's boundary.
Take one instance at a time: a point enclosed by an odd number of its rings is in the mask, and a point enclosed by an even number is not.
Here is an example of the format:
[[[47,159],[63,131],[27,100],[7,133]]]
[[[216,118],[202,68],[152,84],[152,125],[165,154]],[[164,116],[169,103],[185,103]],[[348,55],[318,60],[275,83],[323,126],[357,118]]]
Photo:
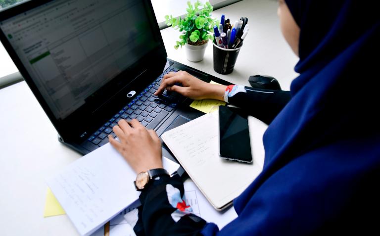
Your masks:
[[[113,132],[120,142],[108,136],[111,145],[120,152],[136,173],[162,167],[161,142],[156,132],[146,130],[136,119],[120,120]]]

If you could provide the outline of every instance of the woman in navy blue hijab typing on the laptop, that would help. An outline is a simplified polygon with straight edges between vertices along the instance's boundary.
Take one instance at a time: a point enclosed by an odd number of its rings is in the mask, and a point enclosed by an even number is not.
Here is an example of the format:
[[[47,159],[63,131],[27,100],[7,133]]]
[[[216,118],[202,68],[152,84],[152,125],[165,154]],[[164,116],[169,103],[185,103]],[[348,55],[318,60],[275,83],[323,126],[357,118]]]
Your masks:
[[[181,180],[162,175],[142,189],[138,235],[379,234],[378,3],[285,1],[279,1],[281,28],[299,55],[291,98],[285,92],[263,95],[208,85],[183,72],[166,75],[157,91],[266,112],[264,168],[234,200],[238,218],[219,231],[176,209],[170,194],[179,189],[183,196]],[[249,105],[239,103],[244,99]],[[154,131],[122,120],[114,132],[120,142],[110,137],[111,144],[137,173],[162,168]]]

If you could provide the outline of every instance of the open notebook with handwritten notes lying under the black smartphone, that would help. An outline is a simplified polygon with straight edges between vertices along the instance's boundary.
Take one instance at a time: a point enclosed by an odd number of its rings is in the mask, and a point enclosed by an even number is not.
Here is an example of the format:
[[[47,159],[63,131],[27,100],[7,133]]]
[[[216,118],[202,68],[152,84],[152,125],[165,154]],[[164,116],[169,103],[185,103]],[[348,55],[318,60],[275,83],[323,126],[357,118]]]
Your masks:
[[[217,210],[223,210],[261,173],[267,125],[248,117],[253,163],[225,160],[218,152],[218,112],[205,114],[161,137],[195,185]]]

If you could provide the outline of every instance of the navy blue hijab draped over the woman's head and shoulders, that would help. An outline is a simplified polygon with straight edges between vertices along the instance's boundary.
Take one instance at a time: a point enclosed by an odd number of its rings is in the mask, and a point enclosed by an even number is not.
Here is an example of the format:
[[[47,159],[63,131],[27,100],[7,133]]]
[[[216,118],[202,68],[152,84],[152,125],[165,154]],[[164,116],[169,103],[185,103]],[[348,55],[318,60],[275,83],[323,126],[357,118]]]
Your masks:
[[[286,4],[300,27],[300,75],[264,134],[262,173],[220,233],[379,235],[379,3]]]

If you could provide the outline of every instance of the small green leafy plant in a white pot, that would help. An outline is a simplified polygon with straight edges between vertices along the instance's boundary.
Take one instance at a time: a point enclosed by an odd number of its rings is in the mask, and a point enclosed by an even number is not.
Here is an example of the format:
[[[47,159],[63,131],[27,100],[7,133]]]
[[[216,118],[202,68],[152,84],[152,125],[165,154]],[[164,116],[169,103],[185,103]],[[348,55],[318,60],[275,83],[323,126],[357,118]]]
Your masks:
[[[207,47],[208,40],[214,40],[213,27],[216,20],[211,18],[213,10],[210,2],[202,3],[197,0],[194,5],[188,1],[187,14],[185,17],[173,18],[172,15],[165,16],[165,23],[182,33],[180,41],[176,42],[174,48],[185,46],[187,59],[190,61],[201,61]]]

